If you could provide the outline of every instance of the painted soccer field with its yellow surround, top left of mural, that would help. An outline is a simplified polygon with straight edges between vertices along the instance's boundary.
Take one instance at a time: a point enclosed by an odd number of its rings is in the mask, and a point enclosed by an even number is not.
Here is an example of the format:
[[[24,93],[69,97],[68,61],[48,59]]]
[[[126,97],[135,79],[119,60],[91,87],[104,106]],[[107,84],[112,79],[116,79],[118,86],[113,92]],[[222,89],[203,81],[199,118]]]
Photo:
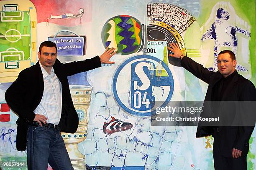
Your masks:
[[[13,82],[36,62],[36,9],[31,2],[1,1],[0,82]]]

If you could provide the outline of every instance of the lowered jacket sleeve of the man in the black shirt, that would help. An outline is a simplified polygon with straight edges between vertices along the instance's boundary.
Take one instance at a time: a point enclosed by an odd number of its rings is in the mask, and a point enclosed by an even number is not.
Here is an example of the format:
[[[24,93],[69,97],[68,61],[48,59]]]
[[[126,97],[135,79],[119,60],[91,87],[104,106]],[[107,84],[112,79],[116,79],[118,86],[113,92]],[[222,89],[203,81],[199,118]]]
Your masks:
[[[245,115],[255,114],[255,112],[251,112],[251,110],[253,110],[252,107],[255,108],[255,105],[253,105],[253,103],[255,104],[255,101],[256,101],[256,89],[252,82],[248,81],[248,83],[243,85],[243,89],[241,90],[240,95],[239,95],[239,100],[240,101],[253,101],[253,102],[251,102],[251,104],[252,104],[251,108],[246,106],[246,107],[243,107],[240,109],[241,109],[241,113],[246,112],[246,110],[250,110],[250,113],[245,114]],[[245,106],[245,105],[243,105],[243,106]],[[254,124],[255,124],[255,117],[256,117],[255,115],[250,115],[250,119],[253,119]],[[246,120],[246,118],[245,118],[245,120]],[[252,120],[250,120],[250,121],[252,121]],[[246,124],[246,122],[243,122],[243,123]],[[238,126],[238,132],[236,135],[236,140],[233,145],[233,148],[236,148],[238,150],[243,150],[246,147],[246,145],[248,145],[248,142],[251,138],[251,134],[253,133],[253,129],[254,129],[254,126]]]

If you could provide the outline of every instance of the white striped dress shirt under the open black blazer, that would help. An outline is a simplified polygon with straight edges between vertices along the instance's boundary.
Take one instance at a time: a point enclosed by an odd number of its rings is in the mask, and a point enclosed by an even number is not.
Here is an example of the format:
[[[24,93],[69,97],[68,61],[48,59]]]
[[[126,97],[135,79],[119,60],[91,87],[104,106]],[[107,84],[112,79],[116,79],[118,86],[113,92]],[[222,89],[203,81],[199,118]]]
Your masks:
[[[40,104],[34,110],[35,114],[47,117],[47,123],[59,124],[61,118],[62,90],[61,82],[51,68],[50,74],[46,72],[39,62],[44,78],[44,94]]]

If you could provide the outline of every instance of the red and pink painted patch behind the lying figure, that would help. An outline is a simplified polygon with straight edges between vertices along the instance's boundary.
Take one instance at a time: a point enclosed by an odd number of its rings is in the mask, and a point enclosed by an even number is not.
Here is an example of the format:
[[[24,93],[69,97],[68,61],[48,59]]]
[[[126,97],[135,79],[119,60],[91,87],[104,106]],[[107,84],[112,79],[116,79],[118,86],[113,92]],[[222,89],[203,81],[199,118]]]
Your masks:
[[[67,19],[49,19],[49,23],[55,23],[65,26],[76,26],[92,20],[91,0],[31,0],[36,7],[37,23],[46,22],[51,15],[63,15],[66,13],[78,14],[79,8],[84,9],[82,18],[67,18]]]

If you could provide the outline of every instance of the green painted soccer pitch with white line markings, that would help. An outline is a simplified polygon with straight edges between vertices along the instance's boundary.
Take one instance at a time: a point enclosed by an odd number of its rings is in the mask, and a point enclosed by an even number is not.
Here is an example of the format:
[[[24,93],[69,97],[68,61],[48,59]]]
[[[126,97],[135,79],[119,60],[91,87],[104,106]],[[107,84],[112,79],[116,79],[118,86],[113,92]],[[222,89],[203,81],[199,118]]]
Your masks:
[[[2,15],[5,16],[15,16],[19,14],[20,12],[2,12]],[[31,58],[29,12],[22,12],[21,16],[23,16],[23,20],[20,17],[13,17],[12,19],[20,21],[5,21],[11,20],[12,17],[3,18],[3,21],[0,21],[0,36],[2,36],[0,37],[0,52],[2,52],[2,61],[29,60]],[[8,50],[10,47],[16,50]],[[24,59],[22,51],[24,52]]]

